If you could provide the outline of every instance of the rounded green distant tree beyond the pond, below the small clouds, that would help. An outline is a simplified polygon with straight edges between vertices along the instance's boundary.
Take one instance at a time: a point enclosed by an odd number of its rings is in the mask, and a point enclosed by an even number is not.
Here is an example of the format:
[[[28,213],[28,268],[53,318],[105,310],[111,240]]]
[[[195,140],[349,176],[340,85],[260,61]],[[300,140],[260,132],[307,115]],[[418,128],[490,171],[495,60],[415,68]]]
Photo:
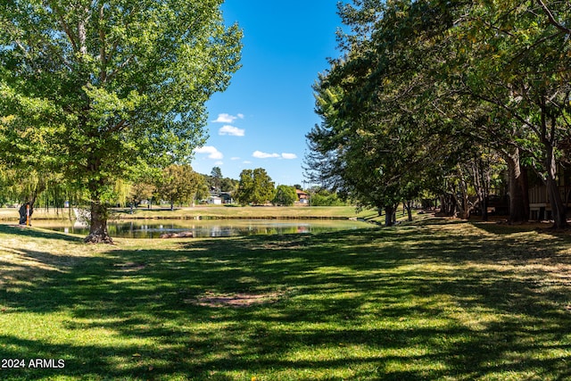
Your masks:
[[[252,203],[263,205],[274,197],[274,182],[266,170],[243,170],[240,173],[240,183],[236,191],[236,201],[243,205]]]

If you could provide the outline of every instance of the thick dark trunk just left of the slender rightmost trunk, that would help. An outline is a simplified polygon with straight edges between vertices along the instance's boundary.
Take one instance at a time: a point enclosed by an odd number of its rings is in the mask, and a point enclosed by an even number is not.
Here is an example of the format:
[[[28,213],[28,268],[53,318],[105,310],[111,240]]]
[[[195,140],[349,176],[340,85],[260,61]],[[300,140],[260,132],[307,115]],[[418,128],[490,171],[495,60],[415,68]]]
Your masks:
[[[525,171],[519,162],[519,149],[505,153],[509,176],[509,223],[524,222],[529,218],[529,203]]]

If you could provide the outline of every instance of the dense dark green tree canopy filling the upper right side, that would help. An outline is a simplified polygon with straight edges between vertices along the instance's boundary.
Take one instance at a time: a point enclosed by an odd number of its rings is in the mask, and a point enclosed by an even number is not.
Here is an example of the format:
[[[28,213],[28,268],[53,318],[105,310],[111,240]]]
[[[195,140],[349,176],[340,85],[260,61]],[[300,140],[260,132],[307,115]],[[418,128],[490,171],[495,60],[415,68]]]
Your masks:
[[[565,227],[557,167],[571,141],[570,12],[555,0],[341,4],[342,54],[314,87],[322,123],[308,134],[310,176],[377,207],[440,187],[468,217],[468,192],[487,210],[501,156],[521,220],[523,159]]]

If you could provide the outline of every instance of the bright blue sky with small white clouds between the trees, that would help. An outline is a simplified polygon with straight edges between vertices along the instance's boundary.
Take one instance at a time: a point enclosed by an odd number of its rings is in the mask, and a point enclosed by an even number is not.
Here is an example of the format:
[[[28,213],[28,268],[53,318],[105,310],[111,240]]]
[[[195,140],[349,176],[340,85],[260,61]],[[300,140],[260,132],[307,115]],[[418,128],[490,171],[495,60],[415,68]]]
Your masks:
[[[193,168],[236,179],[264,168],[276,185],[302,185],[305,134],[319,123],[311,85],[339,54],[336,1],[227,0],[222,10],[244,30],[242,68],[207,104],[210,138]]]

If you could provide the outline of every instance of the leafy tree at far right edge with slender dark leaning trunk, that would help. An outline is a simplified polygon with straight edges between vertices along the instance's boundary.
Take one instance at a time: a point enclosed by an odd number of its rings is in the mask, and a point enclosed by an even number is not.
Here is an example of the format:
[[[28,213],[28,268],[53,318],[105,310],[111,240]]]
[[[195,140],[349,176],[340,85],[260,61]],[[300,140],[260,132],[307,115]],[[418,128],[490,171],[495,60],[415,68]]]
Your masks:
[[[469,41],[465,49],[470,57],[460,78],[472,95],[506,116],[505,125],[517,126],[514,145],[527,152],[547,186],[554,228],[565,228],[567,207],[557,166],[560,147],[571,138],[571,44],[565,22],[559,24],[554,12],[568,18],[569,7],[566,2],[539,3],[476,4],[454,33]]]

